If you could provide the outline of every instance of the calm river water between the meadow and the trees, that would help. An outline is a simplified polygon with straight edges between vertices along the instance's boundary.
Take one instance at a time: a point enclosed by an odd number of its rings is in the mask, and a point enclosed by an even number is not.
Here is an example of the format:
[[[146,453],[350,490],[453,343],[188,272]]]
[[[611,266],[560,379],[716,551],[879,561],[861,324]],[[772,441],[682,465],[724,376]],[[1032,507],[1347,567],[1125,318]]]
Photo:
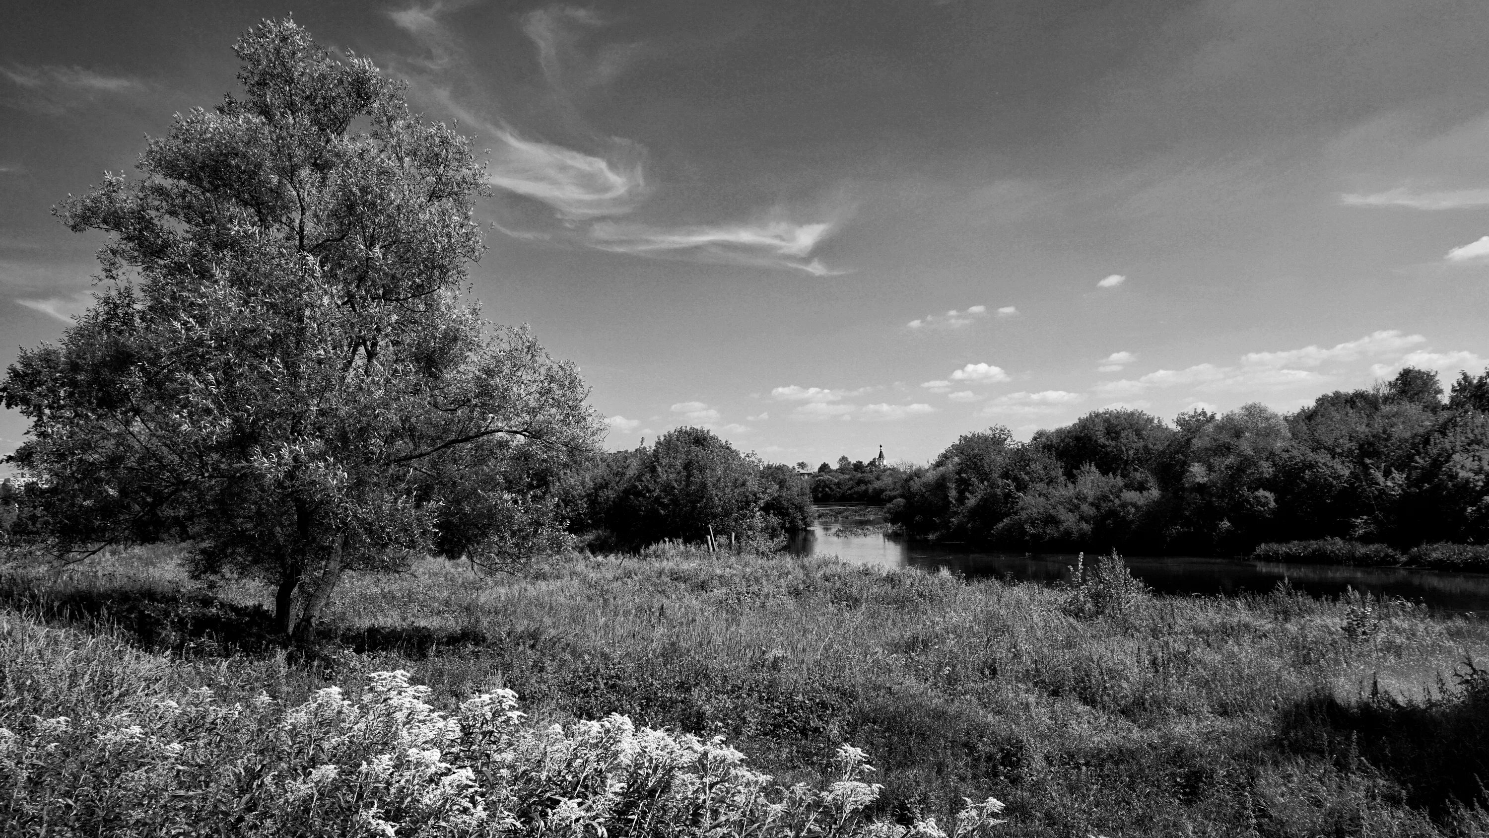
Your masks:
[[[1075,555],[1008,554],[931,545],[883,533],[843,527],[871,524],[826,521],[792,543],[800,555],[835,555],[844,561],[881,567],[950,569],[966,576],[1011,576],[1020,580],[1056,582],[1069,576]],[[1273,564],[1227,558],[1127,555],[1127,566],[1155,591],[1164,594],[1264,594],[1286,579],[1313,595],[1339,595],[1346,588],[1379,597],[1406,597],[1429,607],[1455,612],[1489,612],[1489,573],[1444,573],[1397,567],[1340,567],[1334,564]]]

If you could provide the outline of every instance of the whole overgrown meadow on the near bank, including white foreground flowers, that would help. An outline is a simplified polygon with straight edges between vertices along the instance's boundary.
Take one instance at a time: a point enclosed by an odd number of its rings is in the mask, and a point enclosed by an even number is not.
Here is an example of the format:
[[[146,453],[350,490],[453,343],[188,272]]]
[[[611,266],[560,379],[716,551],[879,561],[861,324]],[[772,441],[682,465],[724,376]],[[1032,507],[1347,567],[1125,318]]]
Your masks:
[[[271,600],[164,548],[10,566],[0,832],[460,835],[484,802],[505,835],[636,834],[636,813],[704,835],[689,777],[712,773],[713,816],[803,835],[806,808],[835,814],[814,790],[844,744],[879,768],[868,817],[947,832],[963,796],[1007,804],[990,835],[1489,828],[1465,808],[1489,775],[1489,633],[1401,601],[1157,597],[1111,561],[1048,588],[675,548],[496,576],[424,560],[348,576],[296,658]],[[427,692],[378,674],[398,670]],[[530,720],[500,717],[503,689]],[[771,828],[722,793],[749,790],[744,767],[776,777],[765,802],[812,792]]]

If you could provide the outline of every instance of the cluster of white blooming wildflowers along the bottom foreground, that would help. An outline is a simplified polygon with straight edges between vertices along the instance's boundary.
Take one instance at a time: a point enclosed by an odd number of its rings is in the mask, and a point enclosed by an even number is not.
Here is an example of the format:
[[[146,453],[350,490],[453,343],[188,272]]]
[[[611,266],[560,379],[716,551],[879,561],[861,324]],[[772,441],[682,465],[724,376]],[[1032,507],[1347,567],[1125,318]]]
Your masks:
[[[931,819],[870,819],[880,786],[850,746],[826,790],[779,787],[722,737],[625,716],[535,729],[511,691],[454,714],[427,692],[392,671],[360,701],[328,688],[289,710],[267,695],[228,707],[197,691],[100,719],[33,717],[0,728],[0,787],[12,790],[0,822],[7,835],[387,838],[971,838],[1001,823],[992,798],[968,801],[950,834]],[[57,807],[57,789],[77,792]]]

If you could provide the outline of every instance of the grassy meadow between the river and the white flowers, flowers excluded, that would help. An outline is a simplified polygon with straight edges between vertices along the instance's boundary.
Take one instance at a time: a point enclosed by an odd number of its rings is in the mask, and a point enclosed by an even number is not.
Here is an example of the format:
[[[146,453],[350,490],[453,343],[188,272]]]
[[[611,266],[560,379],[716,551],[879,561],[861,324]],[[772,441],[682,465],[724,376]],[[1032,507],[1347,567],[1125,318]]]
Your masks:
[[[780,555],[427,561],[350,578],[323,646],[286,655],[267,589],[192,582],[162,549],[12,567],[0,600],[12,731],[203,686],[354,698],[406,670],[439,711],[506,688],[535,731],[619,713],[725,735],[788,786],[826,787],[852,744],[901,823],[996,796],[998,835],[1489,834],[1489,625],[1400,601],[1155,597],[1109,566],[1051,589]],[[264,747],[213,741],[223,765]]]

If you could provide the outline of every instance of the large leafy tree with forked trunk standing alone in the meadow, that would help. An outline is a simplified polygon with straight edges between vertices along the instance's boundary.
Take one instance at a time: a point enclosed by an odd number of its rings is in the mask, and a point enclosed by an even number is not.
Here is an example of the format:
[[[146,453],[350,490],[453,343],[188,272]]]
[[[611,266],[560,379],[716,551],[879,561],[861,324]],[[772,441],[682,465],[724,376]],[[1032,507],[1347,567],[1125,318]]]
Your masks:
[[[97,302],[3,394],[61,549],[191,539],[198,570],[270,580],[290,634],[347,570],[552,533],[543,475],[597,423],[572,365],[462,296],[468,141],[292,21],[235,51],[240,95],[54,210],[110,234]]]

